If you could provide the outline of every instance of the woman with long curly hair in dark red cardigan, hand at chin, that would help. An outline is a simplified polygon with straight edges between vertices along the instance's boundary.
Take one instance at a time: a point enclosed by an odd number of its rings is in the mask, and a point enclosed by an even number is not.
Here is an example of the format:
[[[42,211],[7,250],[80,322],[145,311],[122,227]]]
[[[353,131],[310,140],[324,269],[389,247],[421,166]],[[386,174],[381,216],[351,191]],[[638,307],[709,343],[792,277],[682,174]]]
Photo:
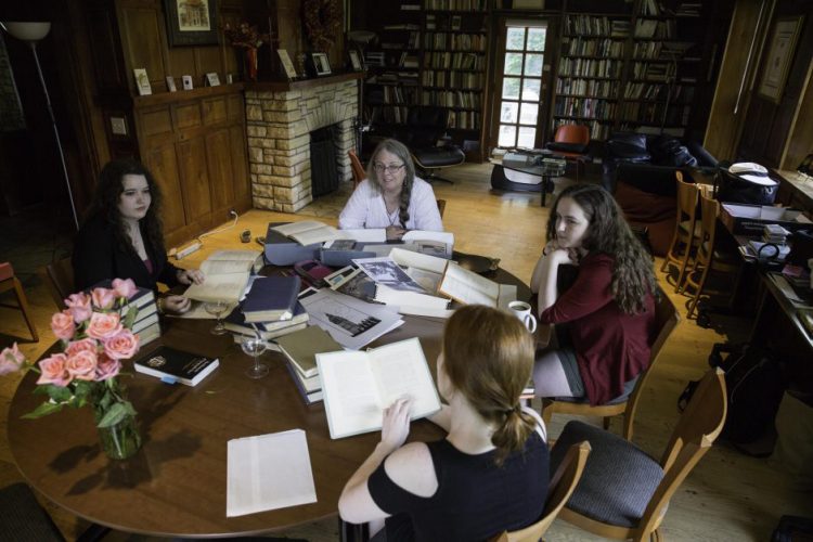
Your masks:
[[[557,344],[538,353],[539,397],[586,397],[603,404],[630,391],[649,364],[658,291],[651,256],[612,196],[597,185],[568,186],[556,198],[547,243],[531,278],[540,323],[557,324]],[[559,295],[559,266],[575,264]]]

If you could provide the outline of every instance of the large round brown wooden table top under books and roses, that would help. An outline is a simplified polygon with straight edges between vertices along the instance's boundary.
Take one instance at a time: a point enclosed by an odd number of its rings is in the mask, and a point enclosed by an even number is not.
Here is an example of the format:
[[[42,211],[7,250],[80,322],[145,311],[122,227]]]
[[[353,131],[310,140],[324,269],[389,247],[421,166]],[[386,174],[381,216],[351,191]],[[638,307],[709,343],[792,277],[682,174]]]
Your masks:
[[[492,279],[519,285],[504,271]],[[434,374],[442,320],[404,317],[400,328],[376,344],[420,337]],[[92,412],[67,409],[39,420],[21,420],[43,396],[31,393],[37,375],[26,375],[9,409],[9,444],[28,482],[57,505],[94,524],[158,537],[222,537],[269,532],[335,516],[345,482],[372,452],[379,433],[332,440],[324,405],[306,405],[282,354],[262,360],[270,374],[245,375],[251,359],[231,335],[214,336],[211,321],[169,320],[159,343],[218,357],[220,366],[196,387],[166,385],[134,373],[124,376],[139,413],[142,449],[128,461],[101,451]],[[230,439],[305,429],[315,503],[225,517],[227,442]],[[412,424],[410,438],[433,440],[443,433],[427,421]]]

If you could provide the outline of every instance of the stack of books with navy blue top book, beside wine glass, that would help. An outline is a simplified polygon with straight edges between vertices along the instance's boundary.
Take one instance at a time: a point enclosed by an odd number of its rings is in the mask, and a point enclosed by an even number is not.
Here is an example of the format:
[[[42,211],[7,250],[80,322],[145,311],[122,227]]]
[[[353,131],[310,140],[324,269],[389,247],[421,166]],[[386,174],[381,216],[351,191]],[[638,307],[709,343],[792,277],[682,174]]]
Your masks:
[[[224,319],[223,325],[235,334],[237,343],[243,335],[270,340],[304,328],[308,313],[297,302],[300,285],[298,276],[255,279],[245,299]]]

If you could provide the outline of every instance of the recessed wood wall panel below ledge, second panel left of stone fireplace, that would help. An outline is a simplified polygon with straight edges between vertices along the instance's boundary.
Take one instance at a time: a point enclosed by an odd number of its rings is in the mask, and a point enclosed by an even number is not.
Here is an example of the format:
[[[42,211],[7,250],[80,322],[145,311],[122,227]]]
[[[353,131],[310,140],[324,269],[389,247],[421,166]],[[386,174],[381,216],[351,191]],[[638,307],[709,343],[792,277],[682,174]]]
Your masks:
[[[183,191],[183,208],[186,212],[186,224],[204,230],[211,220],[211,194],[208,164],[206,159],[206,141],[196,136],[176,143],[178,166]]]

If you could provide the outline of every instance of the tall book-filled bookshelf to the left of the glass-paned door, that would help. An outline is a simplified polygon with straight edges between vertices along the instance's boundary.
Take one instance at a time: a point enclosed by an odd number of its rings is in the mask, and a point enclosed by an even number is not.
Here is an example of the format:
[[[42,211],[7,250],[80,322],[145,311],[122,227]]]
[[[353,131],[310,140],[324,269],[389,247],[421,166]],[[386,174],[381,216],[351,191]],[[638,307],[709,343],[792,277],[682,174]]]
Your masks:
[[[376,131],[405,122],[415,105],[449,111],[447,136],[480,149],[488,68],[489,0],[387,2],[379,44],[365,54],[364,120]],[[476,143],[476,144],[474,144]],[[480,162],[479,151],[467,155]]]

